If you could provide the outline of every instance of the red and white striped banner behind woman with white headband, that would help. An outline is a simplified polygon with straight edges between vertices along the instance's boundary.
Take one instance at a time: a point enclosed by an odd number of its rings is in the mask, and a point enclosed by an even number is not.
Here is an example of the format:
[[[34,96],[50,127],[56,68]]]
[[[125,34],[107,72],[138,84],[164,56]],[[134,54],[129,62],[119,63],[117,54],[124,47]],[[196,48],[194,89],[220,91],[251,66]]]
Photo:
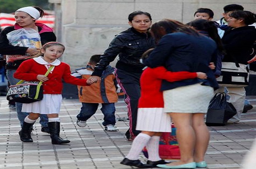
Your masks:
[[[44,15],[43,18],[39,18],[36,22],[46,24],[47,26],[54,29],[54,15]],[[4,29],[7,26],[13,26],[15,19],[13,14],[0,13],[0,27]]]

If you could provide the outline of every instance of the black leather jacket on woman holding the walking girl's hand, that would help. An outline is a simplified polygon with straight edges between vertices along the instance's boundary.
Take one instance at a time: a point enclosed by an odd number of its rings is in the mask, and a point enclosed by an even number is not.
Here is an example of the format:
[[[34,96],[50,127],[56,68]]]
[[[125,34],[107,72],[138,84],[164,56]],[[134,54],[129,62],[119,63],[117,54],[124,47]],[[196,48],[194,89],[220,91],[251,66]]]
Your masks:
[[[155,41],[148,32],[140,33],[131,27],[115,36],[109,47],[101,55],[101,60],[95,66],[92,75],[100,77],[106,66],[117,55],[119,55],[116,63],[117,69],[140,73],[142,68],[145,67],[140,63],[140,57],[146,50],[154,47]]]

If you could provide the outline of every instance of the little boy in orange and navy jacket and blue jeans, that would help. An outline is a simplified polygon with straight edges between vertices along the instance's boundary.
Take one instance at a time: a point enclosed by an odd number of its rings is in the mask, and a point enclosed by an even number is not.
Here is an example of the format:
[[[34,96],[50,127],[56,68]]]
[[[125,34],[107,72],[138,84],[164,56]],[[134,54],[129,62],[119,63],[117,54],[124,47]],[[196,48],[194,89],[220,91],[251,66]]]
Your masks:
[[[101,55],[95,54],[90,57],[90,60],[86,67],[78,68],[72,75],[77,78],[87,79],[94,71],[94,66],[99,62]],[[107,66],[106,70],[101,76],[101,80],[97,83],[93,83],[85,88],[84,86],[78,86],[79,101],[82,103],[81,110],[76,116],[76,124],[79,127],[85,127],[86,121],[93,116],[99,106],[102,104],[101,112],[104,114],[104,122],[106,131],[118,131],[115,127],[115,105],[117,102],[117,81],[114,75],[114,68]]]

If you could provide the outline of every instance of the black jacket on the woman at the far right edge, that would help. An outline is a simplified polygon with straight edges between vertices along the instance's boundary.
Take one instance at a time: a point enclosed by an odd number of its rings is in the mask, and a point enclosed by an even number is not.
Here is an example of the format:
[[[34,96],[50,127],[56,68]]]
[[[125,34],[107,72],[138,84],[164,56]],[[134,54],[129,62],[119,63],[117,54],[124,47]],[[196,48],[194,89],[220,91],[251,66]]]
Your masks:
[[[254,26],[243,26],[224,33],[222,43],[226,55],[222,62],[238,62],[247,65],[251,56],[253,43],[256,41]]]

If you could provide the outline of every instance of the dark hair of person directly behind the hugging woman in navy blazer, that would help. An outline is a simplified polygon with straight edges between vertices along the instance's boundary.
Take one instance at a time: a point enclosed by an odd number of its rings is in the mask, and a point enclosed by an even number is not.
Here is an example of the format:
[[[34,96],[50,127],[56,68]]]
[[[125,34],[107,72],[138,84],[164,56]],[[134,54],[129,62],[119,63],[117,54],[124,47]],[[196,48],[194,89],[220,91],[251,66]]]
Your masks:
[[[207,20],[194,20],[189,23],[189,26],[192,26],[197,31],[206,31],[210,38],[216,42],[218,50],[225,54],[221,38],[218,35],[218,29],[216,24],[213,21]]]

